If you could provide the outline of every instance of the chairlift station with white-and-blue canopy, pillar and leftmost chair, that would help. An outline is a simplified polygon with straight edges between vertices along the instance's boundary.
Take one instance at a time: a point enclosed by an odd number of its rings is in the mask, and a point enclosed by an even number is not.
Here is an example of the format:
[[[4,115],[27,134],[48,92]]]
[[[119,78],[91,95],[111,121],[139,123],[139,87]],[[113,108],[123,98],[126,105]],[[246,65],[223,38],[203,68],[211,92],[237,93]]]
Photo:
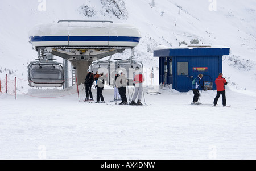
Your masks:
[[[93,61],[123,53],[126,49],[133,52],[141,32],[131,24],[112,21],[60,20],[38,24],[31,29],[29,37],[33,49],[38,52],[38,61],[28,66],[30,86],[68,87],[64,84],[68,81],[68,61],[72,65],[72,82],[74,69],[80,85]],[[57,63],[54,56],[65,62]]]

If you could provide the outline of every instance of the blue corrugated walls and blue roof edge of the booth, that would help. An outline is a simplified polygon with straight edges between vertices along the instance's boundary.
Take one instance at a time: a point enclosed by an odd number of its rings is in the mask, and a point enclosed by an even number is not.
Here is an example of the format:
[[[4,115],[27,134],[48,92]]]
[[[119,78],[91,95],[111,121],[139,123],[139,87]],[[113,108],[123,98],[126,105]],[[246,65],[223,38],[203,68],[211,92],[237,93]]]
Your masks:
[[[173,74],[172,76],[167,74],[166,84],[172,84],[173,89],[180,92],[192,90],[193,78],[201,73],[204,75],[203,81],[213,82],[213,90],[216,90],[214,81],[218,73],[222,72],[222,55],[229,55],[229,48],[178,48],[154,51],[154,56],[159,57],[159,83],[163,84],[165,78],[164,62],[172,59]],[[179,62],[188,62],[187,74],[178,75]],[[207,70],[194,71],[193,68],[207,68]]]

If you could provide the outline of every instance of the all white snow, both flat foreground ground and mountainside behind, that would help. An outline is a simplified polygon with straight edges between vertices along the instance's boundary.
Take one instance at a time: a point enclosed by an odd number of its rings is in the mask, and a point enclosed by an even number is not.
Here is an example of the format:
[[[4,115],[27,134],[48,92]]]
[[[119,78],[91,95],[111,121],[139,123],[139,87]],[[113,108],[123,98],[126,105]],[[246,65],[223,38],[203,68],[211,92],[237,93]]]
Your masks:
[[[0,159],[256,159],[255,0],[161,0],[155,6],[151,0],[129,0],[119,1],[120,9],[108,2],[113,1],[1,0],[0,80],[6,74],[27,80],[27,66],[37,56],[28,32],[36,24],[113,20],[141,30],[134,57],[146,68],[158,66],[153,57],[158,45],[176,47],[199,39],[200,44],[230,47],[223,72],[232,106],[221,107],[221,98],[218,107],[191,106],[192,91],[168,87],[159,95],[145,93],[147,106],[78,102],[76,87],[71,92],[29,90],[31,96],[18,91],[16,100],[13,92],[0,93]],[[95,15],[85,16],[82,5]],[[112,7],[117,13],[106,12]],[[215,95],[203,91],[200,101],[212,104]],[[113,99],[113,88],[106,87],[104,97]]]

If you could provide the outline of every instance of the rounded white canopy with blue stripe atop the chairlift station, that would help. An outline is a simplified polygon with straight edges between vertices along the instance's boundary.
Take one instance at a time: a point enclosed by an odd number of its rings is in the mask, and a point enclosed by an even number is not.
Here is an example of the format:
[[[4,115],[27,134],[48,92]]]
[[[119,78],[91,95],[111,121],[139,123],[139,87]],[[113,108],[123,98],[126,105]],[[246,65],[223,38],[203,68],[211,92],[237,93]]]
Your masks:
[[[135,47],[141,32],[123,23],[59,22],[38,24],[29,37],[33,47]]]

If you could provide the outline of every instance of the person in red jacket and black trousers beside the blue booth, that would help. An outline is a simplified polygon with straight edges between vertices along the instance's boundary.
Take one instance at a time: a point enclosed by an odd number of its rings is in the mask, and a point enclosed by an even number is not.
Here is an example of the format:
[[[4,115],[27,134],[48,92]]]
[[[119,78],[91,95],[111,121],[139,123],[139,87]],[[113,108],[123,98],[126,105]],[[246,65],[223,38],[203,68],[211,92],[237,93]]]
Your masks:
[[[217,102],[218,102],[218,98],[220,98],[220,95],[222,95],[222,105],[226,106],[226,91],[225,91],[225,85],[228,84],[228,82],[226,82],[226,79],[222,77],[223,74],[219,73],[218,74],[218,78],[216,78],[215,80],[215,84],[217,86],[217,95],[214,98],[214,102],[213,105],[216,106]]]

